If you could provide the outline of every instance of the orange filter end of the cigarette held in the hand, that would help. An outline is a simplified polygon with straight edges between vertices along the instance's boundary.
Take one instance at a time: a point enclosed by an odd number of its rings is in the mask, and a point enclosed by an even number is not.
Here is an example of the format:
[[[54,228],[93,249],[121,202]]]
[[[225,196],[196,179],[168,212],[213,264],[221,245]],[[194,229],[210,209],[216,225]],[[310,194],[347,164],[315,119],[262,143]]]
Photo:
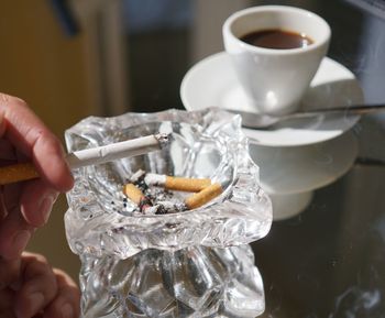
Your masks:
[[[32,163],[20,163],[0,167],[0,185],[29,180],[38,177],[38,173]]]

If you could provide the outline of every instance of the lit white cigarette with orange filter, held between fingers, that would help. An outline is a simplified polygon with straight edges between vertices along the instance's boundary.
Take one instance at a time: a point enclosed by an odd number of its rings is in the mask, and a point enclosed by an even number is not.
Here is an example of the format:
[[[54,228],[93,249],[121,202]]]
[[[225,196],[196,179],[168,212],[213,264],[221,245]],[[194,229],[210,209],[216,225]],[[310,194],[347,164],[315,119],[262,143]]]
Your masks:
[[[168,134],[157,133],[103,146],[76,151],[66,155],[69,168],[76,169],[114,160],[138,156],[161,150],[169,142]],[[0,185],[37,178],[38,173],[32,163],[14,164],[0,168]]]

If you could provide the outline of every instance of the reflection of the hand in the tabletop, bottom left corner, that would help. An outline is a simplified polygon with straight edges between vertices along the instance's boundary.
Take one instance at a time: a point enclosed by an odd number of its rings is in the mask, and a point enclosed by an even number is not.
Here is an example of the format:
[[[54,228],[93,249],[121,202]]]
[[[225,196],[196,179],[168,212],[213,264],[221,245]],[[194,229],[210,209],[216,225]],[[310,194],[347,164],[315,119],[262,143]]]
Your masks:
[[[0,317],[79,317],[76,284],[40,254],[23,252],[18,260],[0,261]]]

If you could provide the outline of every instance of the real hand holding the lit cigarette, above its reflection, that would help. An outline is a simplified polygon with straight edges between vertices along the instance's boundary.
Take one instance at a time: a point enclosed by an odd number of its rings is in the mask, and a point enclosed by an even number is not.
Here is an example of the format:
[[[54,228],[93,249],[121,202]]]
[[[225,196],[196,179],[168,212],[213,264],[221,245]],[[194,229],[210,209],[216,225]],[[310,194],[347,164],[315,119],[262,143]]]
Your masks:
[[[13,260],[74,179],[57,138],[19,98],[0,94],[0,165],[32,161],[41,178],[0,187],[0,256]]]

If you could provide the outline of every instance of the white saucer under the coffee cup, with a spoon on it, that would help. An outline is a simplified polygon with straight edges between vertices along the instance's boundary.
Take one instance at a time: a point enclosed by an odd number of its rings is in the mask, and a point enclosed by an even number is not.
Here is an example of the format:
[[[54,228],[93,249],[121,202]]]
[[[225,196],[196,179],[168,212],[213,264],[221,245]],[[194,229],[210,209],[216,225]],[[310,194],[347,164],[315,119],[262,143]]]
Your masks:
[[[200,61],[187,72],[182,81],[180,98],[187,110],[216,106],[255,112],[248,102],[226,52]],[[354,74],[336,61],[324,57],[300,108],[309,110],[362,101],[362,89]],[[300,146],[334,139],[359,120],[359,116],[320,116],[305,122],[289,122],[276,130],[244,129],[244,133],[251,143],[258,145]]]

